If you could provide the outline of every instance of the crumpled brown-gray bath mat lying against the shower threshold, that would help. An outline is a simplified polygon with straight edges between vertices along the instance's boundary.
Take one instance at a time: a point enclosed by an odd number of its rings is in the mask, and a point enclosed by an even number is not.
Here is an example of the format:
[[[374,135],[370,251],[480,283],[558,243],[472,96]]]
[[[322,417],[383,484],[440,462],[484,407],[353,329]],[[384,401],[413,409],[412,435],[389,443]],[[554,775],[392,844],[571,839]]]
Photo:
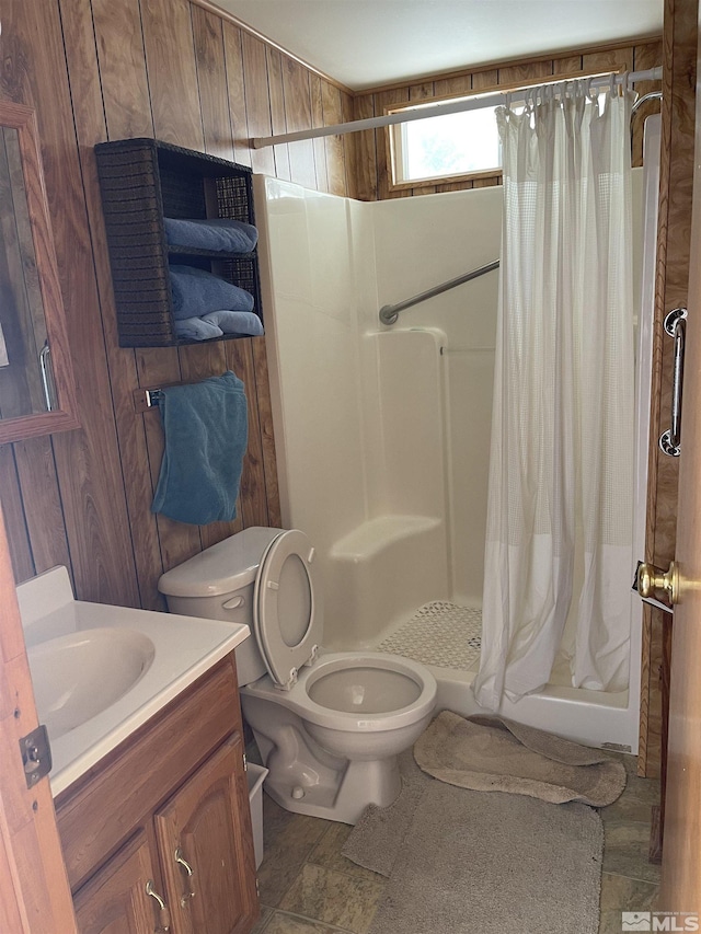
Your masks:
[[[625,766],[596,749],[502,717],[444,711],[414,746],[418,765],[441,782],[510,792],[553,804],[605,807],[625,787]]]

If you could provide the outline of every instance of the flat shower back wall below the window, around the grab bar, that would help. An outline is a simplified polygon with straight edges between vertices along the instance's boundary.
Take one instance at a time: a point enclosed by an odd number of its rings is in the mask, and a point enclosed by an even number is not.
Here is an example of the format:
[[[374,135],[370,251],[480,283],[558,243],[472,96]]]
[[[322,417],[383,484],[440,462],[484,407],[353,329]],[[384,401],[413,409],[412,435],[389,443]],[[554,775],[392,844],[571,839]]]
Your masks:
[[[380,305],[456,278],[501,253],[502,188],[377,201],[371,206]],[[481,606],[496,336],[496,272],[401,312],[393,327],[445,334],[446,457],[451,596]]]

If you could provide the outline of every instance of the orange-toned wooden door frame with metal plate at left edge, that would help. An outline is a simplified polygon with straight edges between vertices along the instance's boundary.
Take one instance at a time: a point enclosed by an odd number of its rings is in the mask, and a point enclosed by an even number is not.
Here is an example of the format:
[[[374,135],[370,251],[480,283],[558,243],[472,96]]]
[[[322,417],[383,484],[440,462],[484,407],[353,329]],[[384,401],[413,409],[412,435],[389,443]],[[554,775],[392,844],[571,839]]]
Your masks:
[[[31,791],[20,737],[37,725],[0,509],[0,931],[70,934],[76,920],[48,777]]]

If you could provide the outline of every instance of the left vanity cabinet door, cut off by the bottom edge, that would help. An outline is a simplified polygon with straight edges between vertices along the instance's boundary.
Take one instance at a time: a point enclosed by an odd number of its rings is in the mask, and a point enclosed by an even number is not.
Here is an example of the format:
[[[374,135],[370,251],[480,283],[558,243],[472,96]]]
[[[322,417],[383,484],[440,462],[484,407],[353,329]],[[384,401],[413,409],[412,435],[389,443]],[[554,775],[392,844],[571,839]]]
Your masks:
[[[154,862],[146,835],[137,833],[76,895],[80,934],[168,931],[170,916],[153,881]]]

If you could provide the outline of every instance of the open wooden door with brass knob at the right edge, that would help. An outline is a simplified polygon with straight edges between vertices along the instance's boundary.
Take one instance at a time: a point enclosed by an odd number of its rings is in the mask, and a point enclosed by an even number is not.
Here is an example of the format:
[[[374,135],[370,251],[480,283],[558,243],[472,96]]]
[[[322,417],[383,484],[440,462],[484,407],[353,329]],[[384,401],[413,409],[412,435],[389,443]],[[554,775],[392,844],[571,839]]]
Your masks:
[[[699,28],[701,37],[701,26]],[[673,623],[665,842],[659,908],[701,914],[701,95],[697,95],[689,319]],[[671,929],[670,929],[671,930]],[[679,927],[678,930],[685,930]]]

